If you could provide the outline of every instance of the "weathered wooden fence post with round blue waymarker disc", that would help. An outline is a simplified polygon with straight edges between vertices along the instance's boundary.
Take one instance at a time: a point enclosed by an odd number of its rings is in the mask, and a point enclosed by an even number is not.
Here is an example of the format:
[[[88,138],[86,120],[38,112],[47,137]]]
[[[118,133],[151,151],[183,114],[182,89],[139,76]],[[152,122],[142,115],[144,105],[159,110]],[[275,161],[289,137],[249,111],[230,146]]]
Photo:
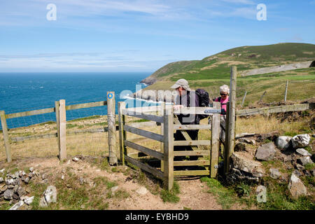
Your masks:
[[[107,123],[109,125],[109,164],[117,165],[115,92],[107,92]]]

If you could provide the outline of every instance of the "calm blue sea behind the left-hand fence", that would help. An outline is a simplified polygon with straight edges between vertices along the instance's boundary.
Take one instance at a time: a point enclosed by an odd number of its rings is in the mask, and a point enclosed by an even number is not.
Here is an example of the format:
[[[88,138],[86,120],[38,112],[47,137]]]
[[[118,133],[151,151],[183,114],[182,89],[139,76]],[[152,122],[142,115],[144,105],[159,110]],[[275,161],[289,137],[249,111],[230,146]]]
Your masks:
[[[132,99],[120,96],[124,90],[135,92],[140,80],[151,72],[137,73],[0,73],[0,110],[17,113],[55,107],[55,101],[65,99],[66,105],[106,100],[106,92],[116,93],[117,102],[127,107],[136,105]],[[138,87],[139,88],[139,87]],[[124,95],[128,92],[125,91]],[[122,97],[122,98],[120,98]],[[144,104],[144,102],[141,102]],[[106,106],[66,112],[66,120],[93,115],[106,115]],[[55,113],[7,119],[8,128],[55,121]],[[1,127],[0,127],[1,129]]]

